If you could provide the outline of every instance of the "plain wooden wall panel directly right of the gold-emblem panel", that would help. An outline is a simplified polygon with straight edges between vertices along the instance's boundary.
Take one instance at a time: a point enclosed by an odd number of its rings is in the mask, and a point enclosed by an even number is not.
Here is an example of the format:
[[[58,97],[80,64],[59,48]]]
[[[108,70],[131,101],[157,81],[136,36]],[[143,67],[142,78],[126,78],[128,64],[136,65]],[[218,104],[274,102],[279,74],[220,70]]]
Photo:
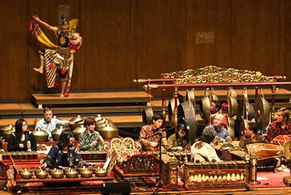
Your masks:
[[[236,1],[236,68],[280,74],[281,1]]]

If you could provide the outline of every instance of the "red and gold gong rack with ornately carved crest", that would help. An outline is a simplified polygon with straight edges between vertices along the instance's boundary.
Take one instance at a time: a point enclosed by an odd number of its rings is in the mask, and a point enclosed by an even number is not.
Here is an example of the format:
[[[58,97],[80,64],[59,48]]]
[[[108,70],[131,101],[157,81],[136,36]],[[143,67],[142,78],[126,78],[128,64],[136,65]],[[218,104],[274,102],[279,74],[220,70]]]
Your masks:
[[[149,91],[151,89],[162,89],[162,107],[163,117],[166,111],[166,89],[173,89],[174,106],[174,125],[177,127],[177,104],[178,91],[185,88],[204,88],[213,87],[255,87],[255,98],[258,97],[259,87],[271,87],[271,117],[273,119],[275,113],[275,91],[277,86],[291,85],[291,82],[284,82],[285,76],[264,76],[260,72],[240,69],[226,69],[216,66],[207,66],[199,69],[188,69],[186,71],[162,73],[160,79],[135,79],[134,83],[143,84],[143,89]],[[169,84],[170,82],[170,84]],[[162,83],[162,84],[158,84]],[[165,122],[163,123],[165,126]]]

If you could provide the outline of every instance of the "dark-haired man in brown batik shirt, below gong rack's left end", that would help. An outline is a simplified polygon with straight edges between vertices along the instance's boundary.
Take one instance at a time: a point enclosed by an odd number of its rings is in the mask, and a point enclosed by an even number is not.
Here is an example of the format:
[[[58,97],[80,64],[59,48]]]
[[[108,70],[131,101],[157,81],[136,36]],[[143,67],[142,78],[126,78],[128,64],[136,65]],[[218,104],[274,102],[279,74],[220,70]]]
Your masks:
[[[154,113],[152,123],[143,126],[139,135],[139,142],[142,150],[145,152],[158,152],[160,149],[160,136],[162,136],[163,150],[168,147],[167,133],[160,128],[163,125],[163,116],[160,113]]]

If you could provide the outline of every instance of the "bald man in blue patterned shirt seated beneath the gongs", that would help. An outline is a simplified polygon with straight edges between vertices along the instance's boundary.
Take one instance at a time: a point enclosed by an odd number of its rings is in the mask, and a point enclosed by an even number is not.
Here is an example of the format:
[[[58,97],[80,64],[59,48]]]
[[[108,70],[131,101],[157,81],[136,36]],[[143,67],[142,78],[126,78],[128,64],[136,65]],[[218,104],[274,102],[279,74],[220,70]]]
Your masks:
[[[217,113],[214,117],[214,123],[213,125],[210,125],[208,127],[212,128],[216,132],[216,136],[222,140],[227,141],[229,139],[229,131],[222,126],[224,120],[224,115],[222,113]]]

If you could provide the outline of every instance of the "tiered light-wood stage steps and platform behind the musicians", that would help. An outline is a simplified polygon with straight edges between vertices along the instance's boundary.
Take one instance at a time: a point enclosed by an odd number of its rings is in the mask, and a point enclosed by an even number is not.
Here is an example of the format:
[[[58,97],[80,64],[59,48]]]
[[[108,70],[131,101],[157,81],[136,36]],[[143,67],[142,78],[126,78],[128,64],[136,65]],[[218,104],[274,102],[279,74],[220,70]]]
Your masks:
[[[238,103],[242,100],[242,89],[235,89],[238,94]],[[198,126],[203,126],[199,115],[199,100],[204,96],[204,90],[195,90],[196,112]],[[265,99],[271,103],[272,91],[264,89]],[[214,91],[220,101],[226,101],[226,89]],[[179,99],[184,99],[185,90],[179,91]],[[143,89],[123,91],[81,91],[70,93],[66,98],[60,98],[57,93],[33,93],[30,102],[0,102],[0,128],[14,125],[18,118],[25,118],[32,126],[35,119],[43,118],[44,106],[52,106],[55,116],[62,120],[81,115],[83,117],[101,114],[113,121],[117,128],[140,129],[143,126],[143,109],[148,106],[149,98],[152,98],[151,106],[154,112],[162,112],[162,98],[152,97]],[[255,89],[248,89],[249,101],[253,102]],[[172,96],[166,98],[166,111],[168,101]],[[278,88],[275,91],[275,109],[282,106],[291,108],[291,91]],[[168,117],[166,118],[168,124]],[[32,128],[32,127],[31,127]],[[128,134],[130,136],[130,134]]]

